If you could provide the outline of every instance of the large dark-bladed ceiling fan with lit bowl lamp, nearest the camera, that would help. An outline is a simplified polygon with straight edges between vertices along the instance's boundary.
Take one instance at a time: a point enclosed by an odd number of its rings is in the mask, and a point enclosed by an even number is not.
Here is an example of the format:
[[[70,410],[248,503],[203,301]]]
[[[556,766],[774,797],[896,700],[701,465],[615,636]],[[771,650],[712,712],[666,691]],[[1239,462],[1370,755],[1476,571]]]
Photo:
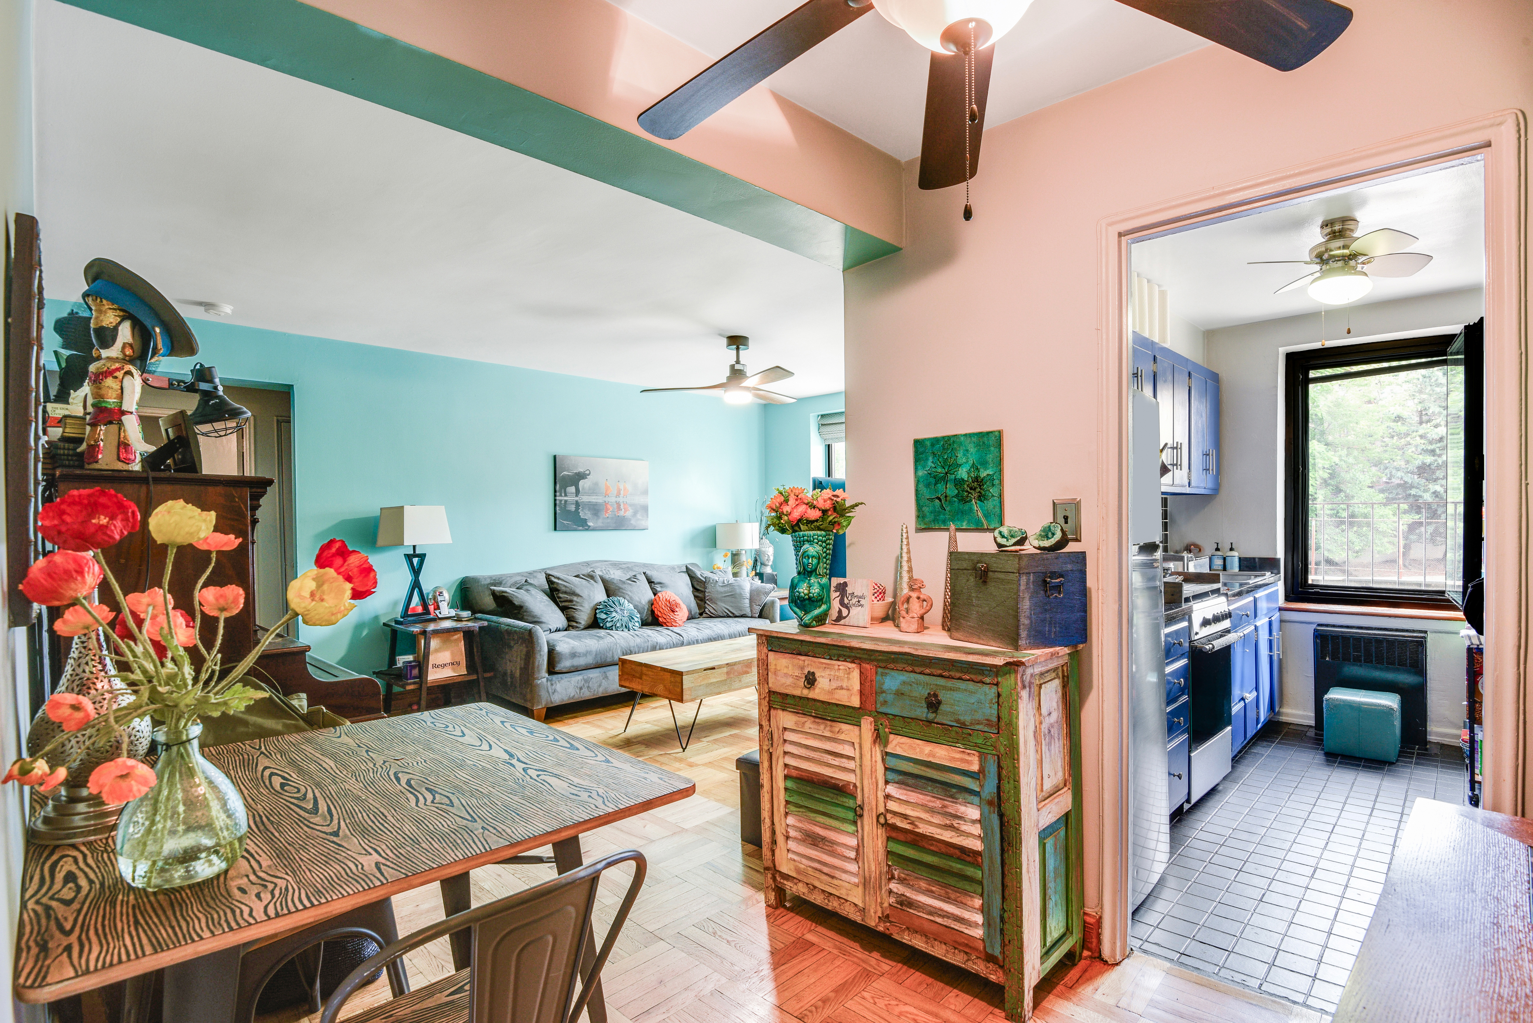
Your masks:
[[[656,138],[681,138],[751,86],[877,8],[932,51],[921,132],[923,189],[967,187],[980,164],[992,46],[1032,0],[809,0],[639,115]],[[1331,0],[1119,0],[1277,71],[1309,63],[1352,11]],[[877,100],[872,100],[877,101]],[[964,219],[970,210],[964,204]]]

